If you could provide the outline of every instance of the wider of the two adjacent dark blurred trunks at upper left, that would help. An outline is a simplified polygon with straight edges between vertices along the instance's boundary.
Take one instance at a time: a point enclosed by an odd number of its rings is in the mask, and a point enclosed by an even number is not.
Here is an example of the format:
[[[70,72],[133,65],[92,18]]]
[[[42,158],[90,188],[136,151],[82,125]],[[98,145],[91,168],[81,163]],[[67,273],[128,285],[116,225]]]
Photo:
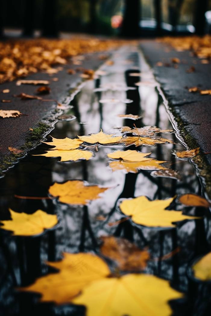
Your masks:
[[[26,0],[31,1],[31,0]],[[57,37],[57,0],[44,0],[43,1],[43,36]]]

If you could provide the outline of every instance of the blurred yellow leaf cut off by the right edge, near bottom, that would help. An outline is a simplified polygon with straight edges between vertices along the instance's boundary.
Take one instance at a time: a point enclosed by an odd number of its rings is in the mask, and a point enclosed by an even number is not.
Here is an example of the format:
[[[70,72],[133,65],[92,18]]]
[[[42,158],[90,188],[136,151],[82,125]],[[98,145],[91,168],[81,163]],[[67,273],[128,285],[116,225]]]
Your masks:
[[[203,256],[193,267],[194,276],[202,281],[211,280],[211,252]]]

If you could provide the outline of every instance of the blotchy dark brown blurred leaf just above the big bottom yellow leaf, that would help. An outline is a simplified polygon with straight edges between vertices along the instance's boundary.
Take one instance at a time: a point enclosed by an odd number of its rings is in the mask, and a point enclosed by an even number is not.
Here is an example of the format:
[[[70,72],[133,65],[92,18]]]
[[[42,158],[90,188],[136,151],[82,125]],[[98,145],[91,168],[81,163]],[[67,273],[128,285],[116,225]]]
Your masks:
[[[146,268],[149,252],[140,250],[135,244],[124,238],[102,236],[100,251],[103,256],[114,260],[120,270],[138,272]]]

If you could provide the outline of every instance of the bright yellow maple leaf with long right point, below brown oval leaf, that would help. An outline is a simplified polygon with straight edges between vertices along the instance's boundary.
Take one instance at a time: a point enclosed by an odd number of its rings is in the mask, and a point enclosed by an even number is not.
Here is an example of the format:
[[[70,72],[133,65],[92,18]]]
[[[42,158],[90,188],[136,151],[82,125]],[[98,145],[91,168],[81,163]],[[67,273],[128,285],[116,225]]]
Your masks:
[[[199,219],[199,217],[183,215],[182,211],[165,210],[174,197],[167,200],[149,201],[147,197],[140,196],[125,199],[120,204],[120,210],[127,216],[132,216],[132,221],[149,227],[175,227],[173,222],[185,219]]]

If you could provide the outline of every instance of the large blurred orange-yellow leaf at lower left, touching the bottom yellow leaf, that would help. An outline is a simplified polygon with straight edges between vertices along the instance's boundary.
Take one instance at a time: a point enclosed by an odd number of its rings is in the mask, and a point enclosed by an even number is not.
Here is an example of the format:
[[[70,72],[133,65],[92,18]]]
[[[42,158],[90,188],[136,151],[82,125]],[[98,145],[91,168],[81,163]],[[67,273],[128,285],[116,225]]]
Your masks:
[[[41,293],[42,302],[53,301],[64,304],[71,302],[86,284],[110,274],[108,265],[91,253],[65,252],[63,256],[61,261],[47,263],[59,269],[58,273],[41,276],[34,284],[19,290]]]

